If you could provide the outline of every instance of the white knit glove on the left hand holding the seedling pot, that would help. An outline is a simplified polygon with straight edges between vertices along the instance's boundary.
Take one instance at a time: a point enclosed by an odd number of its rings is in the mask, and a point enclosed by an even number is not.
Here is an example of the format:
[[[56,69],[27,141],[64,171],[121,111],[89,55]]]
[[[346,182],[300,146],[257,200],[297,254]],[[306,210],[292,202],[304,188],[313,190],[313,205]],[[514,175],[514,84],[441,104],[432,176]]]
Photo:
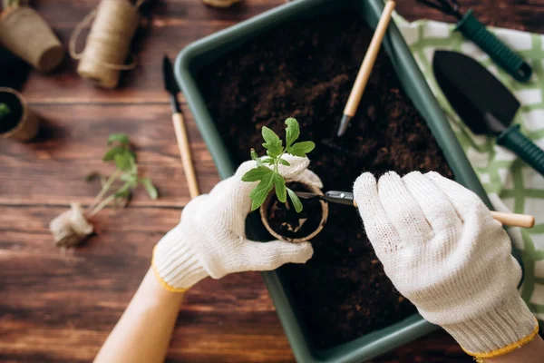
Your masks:
[[[287,181],[323,188],[316,174],[306,169],[307,158],[284,155],[283,159],[291,164],[279,166]],[[180,224],[155,246],[152,266],[165,288],[184,291],[207,276],[220,279],[232,272],[275,270],[288,262],[305,263],[312,257],[314,250],[308,242],[246,239],[249,192],[257,182],[242,182],[241,178],[255,167],[254,161],[244,162],[234,176],[190,201]]]

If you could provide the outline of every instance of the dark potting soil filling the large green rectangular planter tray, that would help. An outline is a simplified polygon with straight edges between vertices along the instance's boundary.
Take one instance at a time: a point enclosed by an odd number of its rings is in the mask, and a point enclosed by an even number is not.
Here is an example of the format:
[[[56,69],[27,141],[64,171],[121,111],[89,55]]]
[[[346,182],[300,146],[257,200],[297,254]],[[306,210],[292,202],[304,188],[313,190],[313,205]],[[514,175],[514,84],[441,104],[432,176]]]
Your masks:
[[[382,51],[348,132],[338,127],[373,31],[353,13],[328,13],[259,36],[199,74],[199,85],[236,162],[264,154],[261,128],[300,123],[316,142],[310,168],[327,190],[351,191],[362,172],[436,171],[452,178],[423,117],[403,92]],[[330,143],[328,144],[330,145]],[[316,348],[330,348],[387,327],[416,309],[393,288],[355,210],[329,203],[314,257],[282,268]]]

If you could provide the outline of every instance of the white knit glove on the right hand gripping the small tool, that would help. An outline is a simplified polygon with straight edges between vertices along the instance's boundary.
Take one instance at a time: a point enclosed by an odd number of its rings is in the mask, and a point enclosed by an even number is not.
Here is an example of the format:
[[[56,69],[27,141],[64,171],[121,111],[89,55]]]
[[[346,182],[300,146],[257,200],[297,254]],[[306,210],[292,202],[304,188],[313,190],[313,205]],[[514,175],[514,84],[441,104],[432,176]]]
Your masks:
[[[497,357],[536,336],[510,238],[476,194],[436,172],[388,172],[377,183],[364,173],[354,193],[396,289],[468,354]]]

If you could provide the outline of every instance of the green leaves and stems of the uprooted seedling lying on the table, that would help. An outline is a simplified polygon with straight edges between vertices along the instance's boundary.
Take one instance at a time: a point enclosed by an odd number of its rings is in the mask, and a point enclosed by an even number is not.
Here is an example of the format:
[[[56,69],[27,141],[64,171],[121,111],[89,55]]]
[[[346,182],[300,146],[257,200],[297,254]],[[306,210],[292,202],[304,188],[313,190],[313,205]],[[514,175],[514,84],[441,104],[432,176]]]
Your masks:
[[[159,195],[150,178],[141,178],[138,175],[136,154],[131,150],[131,142],[125,134],[111,134],[108,138],[108,145],[110,149],[104,154],[102,161],[114,162],[116,171],[110,177],[106,177],[100,172],[92,172],[87,176],[87,181],[96,178],[100,178],[102,181],[102,190],[96,195],[85,213],[88,217],[98,213],[109,204],[125,207],[131,199],[132,191],[138,188],[139,185],[143,186],[151,199],[155,200]],[[107,195],[116,182],[118,184],[117,189]],[[121,185],[119,185],[119,182],[121,182]]]

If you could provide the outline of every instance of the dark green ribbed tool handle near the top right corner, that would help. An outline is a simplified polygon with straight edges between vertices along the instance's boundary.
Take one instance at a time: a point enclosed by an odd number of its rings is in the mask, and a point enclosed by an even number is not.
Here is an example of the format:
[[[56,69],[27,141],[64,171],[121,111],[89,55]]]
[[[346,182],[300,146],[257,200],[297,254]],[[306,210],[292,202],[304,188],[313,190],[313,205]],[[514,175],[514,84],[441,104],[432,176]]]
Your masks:
[[[481,47],[485,53],[491,56],[491,59],[496,64],[499,64],[502,69],[516,80],[520,82],[529,80],[532,74],[530,65],[487,30],[485,25],[481,24],[473,15],[472,9],[462,17],[455,29]]]

